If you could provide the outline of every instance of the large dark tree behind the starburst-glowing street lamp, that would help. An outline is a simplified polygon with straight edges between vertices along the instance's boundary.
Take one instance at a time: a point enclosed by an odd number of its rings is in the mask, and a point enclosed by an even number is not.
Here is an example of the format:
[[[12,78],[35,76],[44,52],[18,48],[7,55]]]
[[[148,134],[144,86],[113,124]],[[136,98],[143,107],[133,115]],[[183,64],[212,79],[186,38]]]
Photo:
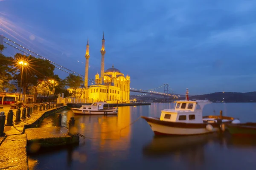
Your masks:
[[[22,79],[22,86],[23,86],[23,94],[26,94],[26,88],[31,85],[34,87],[34,102],[37,99],[37,85],[40,80],[47,79],[49,77],[53,77],[53,71],[55,66],[52,65],[49,60],[44,60],[40,58],[35,58],[33,56],[26,56],[22,54],[15,54],[15,60],[17,61],[16,67],[19,68],[19,72],[21,72],[22,66],[18,64],[19,61],[26,62],[27,65],[23,67],[23,79]],[[21,73],[16,74],[14,79],[17,80],[18,85],[20,85]]]

